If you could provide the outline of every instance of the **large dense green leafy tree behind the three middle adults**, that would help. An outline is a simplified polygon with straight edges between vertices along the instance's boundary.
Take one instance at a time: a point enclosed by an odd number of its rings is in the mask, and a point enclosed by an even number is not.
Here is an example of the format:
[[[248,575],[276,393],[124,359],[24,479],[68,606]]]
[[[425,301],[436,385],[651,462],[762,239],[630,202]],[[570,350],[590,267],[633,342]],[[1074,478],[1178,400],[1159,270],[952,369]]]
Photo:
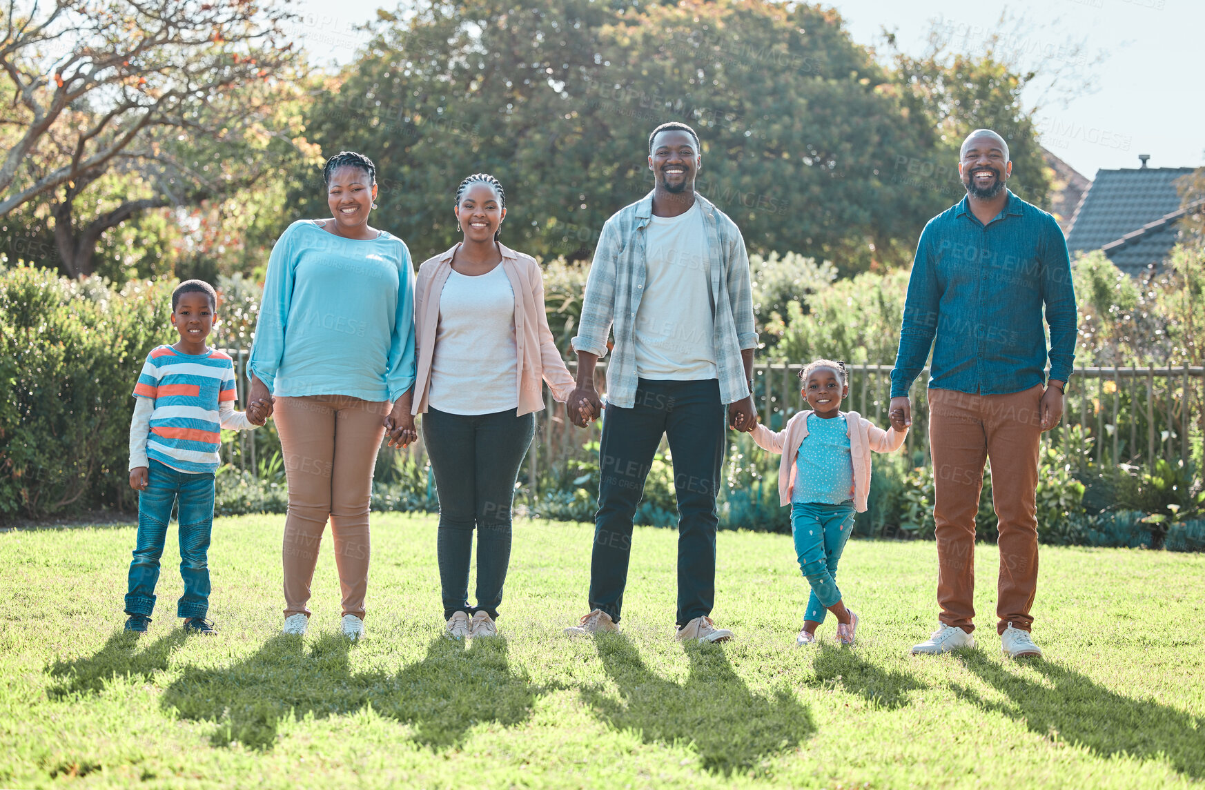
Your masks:
[[[890,178],[935,145],[931,122],[854,45],[835,12],[689,0],[460,0],[382,14],[307,116],[325,154],[380,166],[378,222],[417,258],[451,246],[452,199],[475,171],[507,190],[504,240],[587,258],[606,218],[652,185],[647,136],[684,120],[703,137],[698,188],[752,250],[905,260],[933,199]],[[315,177],[292,201],[325,213]]]

